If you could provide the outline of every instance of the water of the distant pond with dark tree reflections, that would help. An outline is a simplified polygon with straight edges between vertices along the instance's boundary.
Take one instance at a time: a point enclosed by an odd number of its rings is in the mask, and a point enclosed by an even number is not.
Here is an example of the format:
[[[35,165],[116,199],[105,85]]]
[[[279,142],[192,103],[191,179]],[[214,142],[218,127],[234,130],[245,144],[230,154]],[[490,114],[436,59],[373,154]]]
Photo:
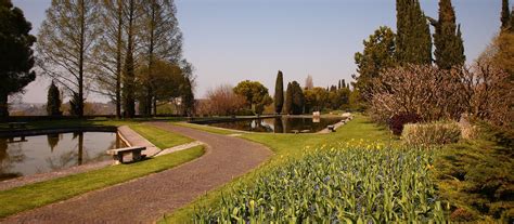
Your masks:
[[[299,118],[299,117],[281,117],[281,118],[265,118],[253,120],[239,121],[223,121],[210,123],[209,126],[235,129],[241,131],[252,132],[270,132],[270,133],[294,133],[308,132],[316,133],[327,126],[337,123],[342,118]]]

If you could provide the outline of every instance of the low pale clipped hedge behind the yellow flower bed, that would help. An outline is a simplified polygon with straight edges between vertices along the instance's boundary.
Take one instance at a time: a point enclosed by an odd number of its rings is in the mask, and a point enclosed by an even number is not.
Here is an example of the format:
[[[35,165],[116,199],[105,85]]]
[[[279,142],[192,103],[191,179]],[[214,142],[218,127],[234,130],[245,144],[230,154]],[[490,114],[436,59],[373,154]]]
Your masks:
[[[432,122],[406,124],[401,137],[411,145],[445,145],[461,139],[457,122]]]

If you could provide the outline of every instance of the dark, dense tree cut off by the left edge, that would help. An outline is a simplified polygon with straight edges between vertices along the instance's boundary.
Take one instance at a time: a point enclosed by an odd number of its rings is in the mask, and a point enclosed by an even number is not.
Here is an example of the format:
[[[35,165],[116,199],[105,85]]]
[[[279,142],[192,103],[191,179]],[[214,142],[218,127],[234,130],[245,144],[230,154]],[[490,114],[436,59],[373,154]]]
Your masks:
[[[0,1],[0,118],[9,116],[9,95],[36,79],[31,28],[22,10],[10,0]]]

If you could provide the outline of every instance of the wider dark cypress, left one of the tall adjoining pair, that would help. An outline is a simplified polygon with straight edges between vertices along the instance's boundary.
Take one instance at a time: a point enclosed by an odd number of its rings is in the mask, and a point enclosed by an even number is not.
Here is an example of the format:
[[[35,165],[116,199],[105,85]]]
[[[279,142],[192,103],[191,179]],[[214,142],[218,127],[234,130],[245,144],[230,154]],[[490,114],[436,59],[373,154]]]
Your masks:
[[[396,58],[400,65],[431,64],[431,28],[419,0],[396,0]]]

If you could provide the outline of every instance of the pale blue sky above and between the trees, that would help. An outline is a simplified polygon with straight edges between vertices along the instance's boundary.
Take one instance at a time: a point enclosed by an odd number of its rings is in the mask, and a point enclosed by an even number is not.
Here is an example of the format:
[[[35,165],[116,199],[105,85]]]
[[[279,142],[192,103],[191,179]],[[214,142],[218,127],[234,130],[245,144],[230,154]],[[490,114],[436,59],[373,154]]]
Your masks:
[[[437,18],[437,0],[420,0]],[[51,0],[13,0],[37,34]],[[501,0],[453,0],[467,63],[483,52],[500,27]],[[243,80],[274,92],[278,70],[284,82],[337,84],[356,74],[354,55],[380,26],[396,30],[395,0],[176,0],[184,36],[184,57],[195,67],[196,97],[220,84]],[[38,76],[23,95],[46,103],[48,78]],[[90,94],[88,101],[106,98]]]

